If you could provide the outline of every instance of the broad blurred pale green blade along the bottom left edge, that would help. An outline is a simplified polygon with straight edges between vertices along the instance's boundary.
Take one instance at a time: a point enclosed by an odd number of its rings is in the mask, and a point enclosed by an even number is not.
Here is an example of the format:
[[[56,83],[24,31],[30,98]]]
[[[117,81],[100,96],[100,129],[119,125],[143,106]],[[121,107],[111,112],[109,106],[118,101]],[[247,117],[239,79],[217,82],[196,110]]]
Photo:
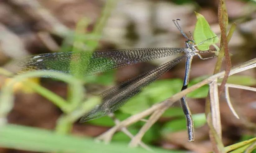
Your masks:
[[[72,153],[147,153],[143,148],[129,148],[127,144],[111,142],[96,143],[89,138],[60,135],[52,131],[20,125],[2,125],[0,128],[0,146],[34,152],[72,152]],[[170,153],[163,149],[152,148],[154,152]]]

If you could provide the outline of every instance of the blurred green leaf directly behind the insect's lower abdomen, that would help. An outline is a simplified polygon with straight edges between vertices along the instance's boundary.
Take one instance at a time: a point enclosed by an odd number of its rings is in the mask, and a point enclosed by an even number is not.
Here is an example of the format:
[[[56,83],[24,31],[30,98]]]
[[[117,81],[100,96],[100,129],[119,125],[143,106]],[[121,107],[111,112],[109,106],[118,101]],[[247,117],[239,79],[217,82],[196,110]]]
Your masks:
[[[206,118],[204,113],[194,114],[192,115],[192,117],[194,120],[195,128],[199,128],[206,124]],[[180,130],[186,130],[187,129],[186,126],[187,126],[186,119],[185,117],[183,117],[183,118],[175,119],[165,123],[162,131],[163,131],[163,134],[165,134],[165,133],[171,133],[171,132],[176,132]]]

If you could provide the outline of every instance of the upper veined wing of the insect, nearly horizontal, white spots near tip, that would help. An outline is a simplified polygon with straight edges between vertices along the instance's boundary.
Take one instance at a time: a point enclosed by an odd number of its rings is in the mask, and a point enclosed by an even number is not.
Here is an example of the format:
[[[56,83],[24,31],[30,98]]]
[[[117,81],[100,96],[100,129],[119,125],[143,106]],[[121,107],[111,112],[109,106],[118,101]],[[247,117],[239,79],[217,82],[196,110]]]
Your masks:
[[[186,48],[136,48],[96,50],[81,52],[57,52],[30,56],[20,61],[24,69],[50,70],[72,73],[77,67],[84,76],[106,72],[123,66],[136,64],[179,54]],[[72,61],[78,61],[75,67]],[[86,65],[86,66],[85,66]]]

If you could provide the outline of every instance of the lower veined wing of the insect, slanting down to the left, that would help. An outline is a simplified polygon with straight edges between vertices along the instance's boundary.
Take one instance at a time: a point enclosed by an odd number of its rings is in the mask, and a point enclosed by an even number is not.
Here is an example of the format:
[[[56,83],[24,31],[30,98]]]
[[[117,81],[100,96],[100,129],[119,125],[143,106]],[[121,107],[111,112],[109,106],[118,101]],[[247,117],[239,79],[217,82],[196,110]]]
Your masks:
[[[165,74],[168,70],[186,57],[187,55],[179,56],[101,93],[100,95],[103,98],[103,102],[95,107],[92,111],[84,115],[80,119],[80,122],[94,120],[118,110],[128,101],[129,98],[136,95],[148,84],[157,80],[160,76]]]

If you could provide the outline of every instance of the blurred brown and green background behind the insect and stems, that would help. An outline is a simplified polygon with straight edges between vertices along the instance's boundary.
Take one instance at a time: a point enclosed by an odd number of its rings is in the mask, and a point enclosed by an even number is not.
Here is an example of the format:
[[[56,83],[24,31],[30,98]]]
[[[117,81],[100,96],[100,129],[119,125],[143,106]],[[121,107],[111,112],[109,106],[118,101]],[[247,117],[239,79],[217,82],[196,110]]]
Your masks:
[[[243,63],[256,57],[256,2],[249,0],[226,0],[229,23],[236,23],[237,28],[229,43],[232,65]],[[28,55],[49,52],[70,51],[72,49],[72,31],[76,24],[86,18],[85,27],[89,33],[104,16],[105,0],[2,0],[0,1],[0,63],[2,68],[17,72],[20,68],[16,61]],[[186,40],[173,24],[173,19],[180,19],[179,24],[189,35],[196,23],[194,11],[202,14],[214,33],[220,36],[217,18],[218,1],[204,0],[116,0],[109,8],[107,18],[99,35],[85,35],[89,40],[99,40],[97,50],[184,47]],[[92,50],[85,45],[81,50]],[[149,63],[139,63],[101,75],[87,77],[87,93],[99,94],[110,87],[133,76],[156,67],[174,57],[157,59]],[[192,62],[191,84],[201,81],[214,70],[216,59]],[[223,68],[225,68],[225,63]],[[255,70],[250,69],[233,78],[234,84],[255,86]],[[163,75],[160,81],[131,99],[121,110],[116,112],[119,119],[125,119],[154,103],[170,97],[181,90],[184,76],[184,61]],[[7,76],[0,76],[1,85]],[[41,85],[63,98],[67,97],[67,85],[48,78],[41,79]],[[166,87],[166,85],[168,85]],[[184,116],[179,103],[168,109],[165,115],[145,134],[143,142],[169,150],[209,152],[209,129],[206,125],[205,86],[190,94],[189,106],[195,114],[195,142],[187,142]],[[201,93],[201,94],[200,94]],[[153,94],[153,95],[152,95]],[[149,96],[151,95],[151,97]],[[153,96],[153,97],[152,97]],[[226,104],[225,97],[220,98],[220,111],[223,143],[225,146],[255,137],[256,94],[253,91],[230,89],[231,102],[238,112],[236,119]],[[142,102],[142,103],[140,103]],[[133,111],[131,111],[133,110]],[[40,127],[53,130],[62,111],[53,103],[33,92],[16,92],[15,105],[8,116],[8,122],[19,125]],[[130,126],[131,133],[143,125],[139,122]],[[105,132],[114,122],[109,117],[80,124],[74,123],[72,134],[79,137],[95,137]],[[250,126],[252,125],[252,126]],[[118,132],[113,141],[129,142],[125,134]],[[25,152],[0,149],[0,152]]]

